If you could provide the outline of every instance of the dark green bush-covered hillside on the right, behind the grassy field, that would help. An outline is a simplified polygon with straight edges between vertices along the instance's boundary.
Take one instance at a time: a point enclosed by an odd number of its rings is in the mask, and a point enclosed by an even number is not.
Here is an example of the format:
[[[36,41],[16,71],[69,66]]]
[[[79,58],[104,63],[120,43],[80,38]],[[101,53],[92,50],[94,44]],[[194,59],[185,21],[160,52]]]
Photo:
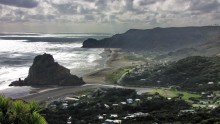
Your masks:
[[[140,81],[145,79],[144,81]],[[125,83],[126,82],[126,83]],[[136,83],[134,83],[136,82]],[[140,76],[128,75],[124,84],[177,85],[181,89],[206,91],[220,89],[220,57],[192,56],[169,65],[146,68]]]

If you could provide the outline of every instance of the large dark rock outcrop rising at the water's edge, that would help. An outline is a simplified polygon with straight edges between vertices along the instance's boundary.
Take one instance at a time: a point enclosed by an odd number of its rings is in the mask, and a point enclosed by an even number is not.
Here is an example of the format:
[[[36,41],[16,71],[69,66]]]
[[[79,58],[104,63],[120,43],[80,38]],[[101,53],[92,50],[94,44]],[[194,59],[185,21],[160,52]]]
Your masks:
[[[33,85],[82,85],[84,81],[70,70],[54,61],[50,54],[38,55],[29,69],[29,74],[24,80],[19,79],[10,86],[33,86]]]

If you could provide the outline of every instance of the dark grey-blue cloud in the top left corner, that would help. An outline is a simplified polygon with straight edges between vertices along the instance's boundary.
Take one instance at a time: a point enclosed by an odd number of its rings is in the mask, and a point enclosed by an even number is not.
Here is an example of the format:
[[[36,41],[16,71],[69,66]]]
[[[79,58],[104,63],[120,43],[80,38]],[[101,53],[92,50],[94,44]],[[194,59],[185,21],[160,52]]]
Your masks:
[[[38,5],[38,2],[35,0],[0,0],[0,4],[24,8],[34,8]]]

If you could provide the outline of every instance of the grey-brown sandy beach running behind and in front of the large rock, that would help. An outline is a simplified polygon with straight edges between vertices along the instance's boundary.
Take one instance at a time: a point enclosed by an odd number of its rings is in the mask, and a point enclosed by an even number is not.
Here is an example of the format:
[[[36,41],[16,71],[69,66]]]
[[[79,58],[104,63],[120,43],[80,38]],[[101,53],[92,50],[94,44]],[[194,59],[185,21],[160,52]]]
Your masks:
[[[141,61],[132,61],[124,59],[124,51],[121,49],[105,49],[105,51],[109,52],[110,56],[106,62],[106,65],[103,69],[95,71],[93,73],[87,74],[83,76],[83,80],[86,82],[86,85],[83,86],[66,86],[66,87],[38,87],[38,88],[30,88],[27,90],[29,95],[23,95],[21,97],[16,97],[23,99],[25,101],[37,101],[37,102],[45,102],[48,98],[58,98],[63,97],[68,94],[73,94],[75,92],[79,92],[86,89],[91,88],[99,88],[106,87],[106,84],[109,82],[106,80],[106,75],[113,72],[114,70],[126,66],[143,64]],[[116,87],[116,85],[108,85],[108,87]],[[147,88],[148,89],[148,88]],[[146,90],[147,90],[146,89]]]

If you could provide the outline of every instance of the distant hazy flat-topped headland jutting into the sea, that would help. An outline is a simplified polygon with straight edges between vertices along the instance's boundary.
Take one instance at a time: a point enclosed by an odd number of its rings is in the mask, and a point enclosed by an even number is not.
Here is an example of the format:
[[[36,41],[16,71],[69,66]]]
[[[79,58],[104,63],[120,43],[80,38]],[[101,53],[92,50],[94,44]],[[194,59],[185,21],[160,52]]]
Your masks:
[[[220,27],[217,26],[131,29],[102,40],[87,39],[83,47],[172,51],[205,43],[219,32]]]

